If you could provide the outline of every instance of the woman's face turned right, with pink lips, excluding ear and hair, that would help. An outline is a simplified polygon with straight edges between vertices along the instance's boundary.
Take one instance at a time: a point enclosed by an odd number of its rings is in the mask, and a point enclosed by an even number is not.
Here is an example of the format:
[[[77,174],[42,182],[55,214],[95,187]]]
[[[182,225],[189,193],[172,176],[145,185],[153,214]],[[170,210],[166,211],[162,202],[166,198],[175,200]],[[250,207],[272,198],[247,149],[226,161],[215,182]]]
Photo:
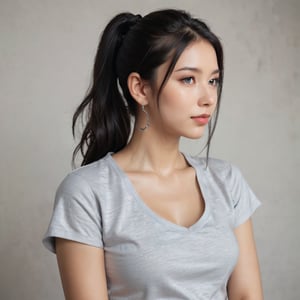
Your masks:
[[[157,70],[160,86],[168,63]],[[217,103],[218,62],[214,48],[205,40],[190,44],[178,59],[164,86],[157,107],[149,102],[151,127],[164,135],[196,139],[203,135]]]

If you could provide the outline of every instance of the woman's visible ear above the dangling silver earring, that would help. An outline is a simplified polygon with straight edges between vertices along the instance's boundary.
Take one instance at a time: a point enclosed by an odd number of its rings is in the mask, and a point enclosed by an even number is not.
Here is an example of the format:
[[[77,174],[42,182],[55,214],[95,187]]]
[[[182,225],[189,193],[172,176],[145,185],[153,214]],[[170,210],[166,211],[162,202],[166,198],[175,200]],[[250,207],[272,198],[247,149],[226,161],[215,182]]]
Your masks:
[[[143,80],[139,73],[132,72],[127,78],[128,90],[132,98],[140,105],[148,104],[149,84]]]

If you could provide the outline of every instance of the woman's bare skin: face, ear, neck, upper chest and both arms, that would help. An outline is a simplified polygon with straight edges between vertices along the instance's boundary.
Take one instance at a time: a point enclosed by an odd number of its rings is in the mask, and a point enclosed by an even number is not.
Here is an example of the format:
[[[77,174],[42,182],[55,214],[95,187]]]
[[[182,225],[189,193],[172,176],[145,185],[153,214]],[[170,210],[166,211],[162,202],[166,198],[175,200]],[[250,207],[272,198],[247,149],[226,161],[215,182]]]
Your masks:
[[[140,110],[131,141],[113,158],[149,208],[189,227],[201,218],[204,201],[195,170],[179,151],[179,141],[182,136],[196,139],[203,135],[205,125],[192,117],[212,115],[215,110],[218,64],[208,42],[197,40],[189,45],[162,90],[158,106],[156,91],[167,67],[168,62],[157,69],[154,87],[137,73],[129,75],[131,95],[146,106],[151,125],[146,131],[139,130],[146,123]],[[151,188],[154,185],[155,190]],[[228,283],[229,299],[263,299],[251,220],[240,225],[235,234],[240,256]],[[103,250],[64,239],[56,243],[66,299],[108,299]]]

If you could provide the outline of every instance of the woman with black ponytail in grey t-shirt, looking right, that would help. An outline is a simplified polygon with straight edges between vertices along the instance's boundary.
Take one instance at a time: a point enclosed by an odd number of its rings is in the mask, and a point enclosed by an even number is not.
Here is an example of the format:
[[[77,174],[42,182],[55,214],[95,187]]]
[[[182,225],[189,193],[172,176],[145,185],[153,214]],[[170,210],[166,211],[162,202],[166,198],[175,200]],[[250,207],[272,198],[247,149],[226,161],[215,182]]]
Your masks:
[[[236,167],[208,158],[222,82],[220,41],[188,13],[109,22],[73,118],[74,133],[87,116],[82,167],[58,188],[44,239],[66,299],[262,299],[259,201]],[[206,126],[206,159],[181,153]]]

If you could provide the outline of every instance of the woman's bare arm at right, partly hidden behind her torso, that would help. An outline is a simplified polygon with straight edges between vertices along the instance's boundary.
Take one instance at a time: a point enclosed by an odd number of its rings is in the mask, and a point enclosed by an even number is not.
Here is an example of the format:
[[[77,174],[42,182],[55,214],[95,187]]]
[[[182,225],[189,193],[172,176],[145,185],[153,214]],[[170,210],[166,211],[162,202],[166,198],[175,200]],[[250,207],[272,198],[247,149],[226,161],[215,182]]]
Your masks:
[[[237,265],[229,279],[230,300],[262,300],[263,292],[251,219],[235,230],[240,247]]]

